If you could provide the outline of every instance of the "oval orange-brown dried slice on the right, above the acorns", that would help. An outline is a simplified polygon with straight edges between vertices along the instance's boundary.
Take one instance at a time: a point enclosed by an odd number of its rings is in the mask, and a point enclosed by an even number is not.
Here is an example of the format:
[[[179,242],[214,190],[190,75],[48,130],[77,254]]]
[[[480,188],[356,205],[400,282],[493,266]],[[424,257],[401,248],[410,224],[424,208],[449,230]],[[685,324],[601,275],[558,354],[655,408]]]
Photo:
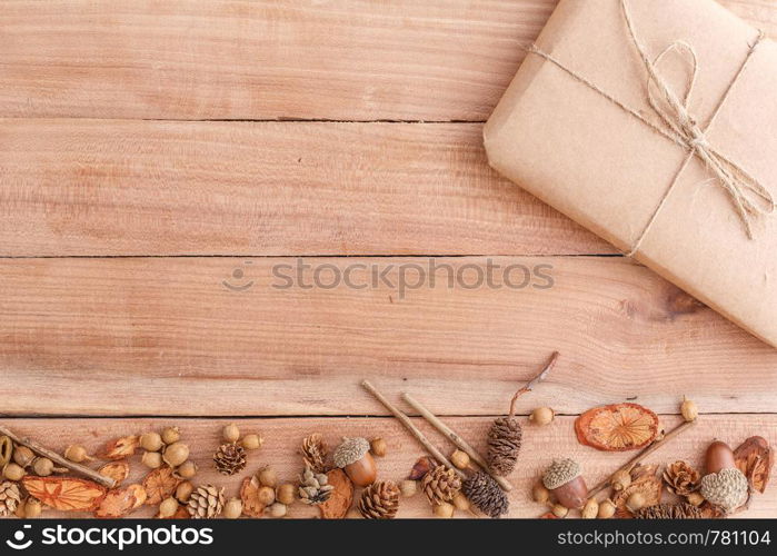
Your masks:
[[[658,416],[637,404],[589,409],[575,420],[580,444],[602,451],[626,451],[650,444],[658,434]]]

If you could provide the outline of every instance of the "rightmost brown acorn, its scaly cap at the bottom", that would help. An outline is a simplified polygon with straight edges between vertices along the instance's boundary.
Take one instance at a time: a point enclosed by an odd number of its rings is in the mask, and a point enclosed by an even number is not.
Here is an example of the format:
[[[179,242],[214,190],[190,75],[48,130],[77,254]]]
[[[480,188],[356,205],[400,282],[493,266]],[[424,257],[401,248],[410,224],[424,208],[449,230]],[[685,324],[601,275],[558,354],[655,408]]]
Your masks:
[[[707,475],[701,477],[699,494],[710,504],[729,513],[747,502],[749,483],[735,463],[734,451],[719,440],[707,448]]]

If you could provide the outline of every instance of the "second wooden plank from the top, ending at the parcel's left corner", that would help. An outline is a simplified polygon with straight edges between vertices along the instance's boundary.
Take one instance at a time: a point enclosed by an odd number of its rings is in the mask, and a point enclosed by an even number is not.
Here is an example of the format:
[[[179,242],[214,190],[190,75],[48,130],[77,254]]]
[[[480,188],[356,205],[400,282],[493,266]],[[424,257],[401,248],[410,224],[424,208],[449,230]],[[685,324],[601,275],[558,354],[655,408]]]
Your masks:
[[[477,123],[0,121],[0,256],[591,252]]]

